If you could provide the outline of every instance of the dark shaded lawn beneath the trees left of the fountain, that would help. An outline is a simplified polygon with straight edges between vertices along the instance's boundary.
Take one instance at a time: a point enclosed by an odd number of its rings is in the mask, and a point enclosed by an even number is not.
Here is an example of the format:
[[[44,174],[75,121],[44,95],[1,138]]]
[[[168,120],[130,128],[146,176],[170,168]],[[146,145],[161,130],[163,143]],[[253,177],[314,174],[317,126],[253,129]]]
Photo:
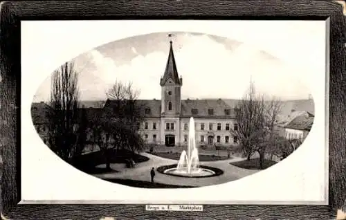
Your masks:
[[[142,156],[140,154],[133,154],[132,152],[121,150],[117,153],[109,150],[107,152],[109,157],[110,163],[126,163],[125,161],[132,158],[135,163],[142,163],[145,161],[149,161],[149,158],[146,156]],[[107,173],[107,172],[116,172],[112,169],[107,170],[105,168],[98,168],[95,167],[100,164],[106,163],[106,159],[102,155],[102,152],[92,152],[89,154],[82,154],[76,158],[74,158],[73,165],[75,168],[80,169],[83,172],[86,172],[88,174],[101,174],[101,173]]]

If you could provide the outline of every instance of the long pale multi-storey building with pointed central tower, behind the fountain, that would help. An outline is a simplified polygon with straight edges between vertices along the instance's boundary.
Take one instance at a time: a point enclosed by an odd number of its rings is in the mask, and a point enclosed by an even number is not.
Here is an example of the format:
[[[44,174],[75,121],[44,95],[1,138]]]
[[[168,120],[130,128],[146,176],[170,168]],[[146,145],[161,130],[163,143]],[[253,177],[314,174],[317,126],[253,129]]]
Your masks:
[[[183,78],[178,75],[172,42],[165,73],[158,86],[161,86],[161,100],[137,100],[143,107],[144,122],[140,125],[140,134],[146,143],[187,145],[188,126],[190,117],[193,117],[197,145],[237,145],[237,137],[230,133],[231,129],[237,129],[235,113],[225,100],[181,99]],[[116,100],[107,100],[105,107],[111,108],[115,103]]]

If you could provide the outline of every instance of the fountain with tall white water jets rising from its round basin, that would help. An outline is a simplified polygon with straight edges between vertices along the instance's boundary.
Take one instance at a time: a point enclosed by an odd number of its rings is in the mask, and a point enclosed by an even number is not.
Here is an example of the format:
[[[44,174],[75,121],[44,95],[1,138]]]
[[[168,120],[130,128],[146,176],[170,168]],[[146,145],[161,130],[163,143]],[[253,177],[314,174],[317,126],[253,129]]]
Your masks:
[[[185,177],[207,177],[215,176],[215,172],[199,165],[198,149],[194,134],[194,119],[190,118],[188,152],[183,150],[179,158],[178,165],[165,169],[164,174]]]

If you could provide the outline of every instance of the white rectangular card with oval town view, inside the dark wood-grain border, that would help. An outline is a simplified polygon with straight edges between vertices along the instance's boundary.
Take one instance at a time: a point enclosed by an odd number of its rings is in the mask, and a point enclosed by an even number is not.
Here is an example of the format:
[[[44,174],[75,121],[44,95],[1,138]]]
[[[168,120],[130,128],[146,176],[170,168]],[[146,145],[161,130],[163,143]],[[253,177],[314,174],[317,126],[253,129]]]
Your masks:
[[[327,204],[326,21],[21,28],[21,203]]]

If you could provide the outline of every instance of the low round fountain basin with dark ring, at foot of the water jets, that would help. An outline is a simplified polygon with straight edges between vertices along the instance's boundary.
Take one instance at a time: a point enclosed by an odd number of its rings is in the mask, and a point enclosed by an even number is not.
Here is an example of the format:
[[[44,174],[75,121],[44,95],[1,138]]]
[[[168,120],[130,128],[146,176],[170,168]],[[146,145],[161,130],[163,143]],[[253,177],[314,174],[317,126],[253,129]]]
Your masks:
[[[171,176],[181,176],[181,177],[187,177],[187,178],[212,177],[212,176],[219,176],[224,173],[222,169],[200,165],[197,171],[192,171],[189,174],[188,168],[177,169],[176,164],[158,167],[157,171],[160,172],[161,174],[166,174]]]

